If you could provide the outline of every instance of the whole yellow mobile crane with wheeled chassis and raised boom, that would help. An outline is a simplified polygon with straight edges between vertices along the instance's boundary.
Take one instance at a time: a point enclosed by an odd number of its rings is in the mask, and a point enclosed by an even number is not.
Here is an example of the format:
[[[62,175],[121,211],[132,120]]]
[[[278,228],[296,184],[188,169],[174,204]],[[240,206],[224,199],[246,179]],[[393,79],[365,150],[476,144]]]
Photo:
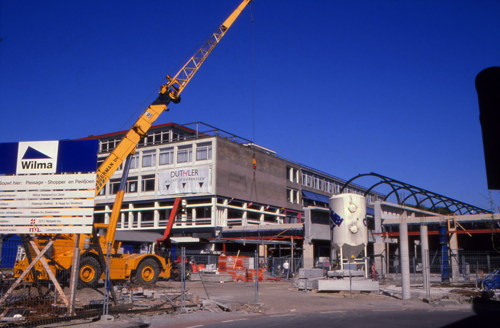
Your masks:
[[[60,235],[53,242],[50,254],[47,254],[47,261],[50,273],[55,277],[60,277],[61,274],[67,274],[70,270],[73,261],[73,250],[75,243],[78,243],[80,249],[79,261],[79,288],[90,287],[97,285],[100,278],[103,278],[104,254],[108,255],[108,245],[110,247],[110,268],[109,273],[111,280],[132,280],[141,284],[154,284],[159,277],[169,278],[171,264],[170,261],[155,254],[118,254],[120,243],[114,242],[114,234],[116,223],[119,218],[121,203],[124,195],[124,185],[128,174],[131,155],[135,152],[135,147],[139,140],[147,136],[147,130],[156,120],[163,110],[167,110],[167,105],[170,102],[174,104],[180,102],[180,93],[191,80],[192,76],[198,70],[199,66],[204,62],[206,57],[213,50],[215,45],[224,36],[227,29],[231,26],[240,12],[251,0],[243,0],[239,6],[229,15],[229,17],[220,25],[213,35],[205,42],[205,44],[187,61],[187,63],[179,70],[179,72],[171,77],[166,76],[167,83],[161,86],[159,95],[140,115],[133,126],[127,131],[120,143],[107,156],[96,172],[96,188],[95,194],[104,187],[109,178],[113,175],[120,164],[125,161],[123,167],[123,175],[121,183],[116,194],[109,224],[94,223],[92,235],[82,235],[79,242],[76,242],[75,234]],[[174,208],[171,211],[168,227],[175,219],[178,209],[178,200],[174,203]],[[98,236],[97,229],[105,230],[105,236]],[[168,229],[169,231],[170,229]],[[38,238],[34,240],[34,244],[38,248],[43,248],[49,241]],[[24,243],[26,249],[26,257],[23,260],[16,262],[14,267],[14,276],[19,277],[31,262],[31,258],[36,256],[36,253],[31,248],[31,245]],[[29,252],[28,252],[29,250]],[[48,280],[49,273],[44,270],[43,266],[38,262],[34,265],[31,272],[24,276],[24,280],[38,281]],[[58,279],[62,283],[62,279]]]

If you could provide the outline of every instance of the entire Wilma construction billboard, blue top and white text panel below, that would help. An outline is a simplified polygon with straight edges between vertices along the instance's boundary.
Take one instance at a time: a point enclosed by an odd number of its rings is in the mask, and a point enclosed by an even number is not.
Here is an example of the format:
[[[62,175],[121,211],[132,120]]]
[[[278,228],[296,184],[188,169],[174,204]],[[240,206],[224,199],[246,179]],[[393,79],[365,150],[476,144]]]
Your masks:
[[[0,143],[0,233],[91,233],[97,149],[97,140]]]

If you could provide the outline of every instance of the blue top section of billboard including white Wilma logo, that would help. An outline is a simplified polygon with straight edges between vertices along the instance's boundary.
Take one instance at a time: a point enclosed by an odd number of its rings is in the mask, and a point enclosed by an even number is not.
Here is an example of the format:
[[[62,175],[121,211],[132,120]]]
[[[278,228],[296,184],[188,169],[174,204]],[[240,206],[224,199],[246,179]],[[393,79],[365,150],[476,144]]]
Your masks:
[[[0,174],[95,172],[98,148],[98,140],[0,143]]]

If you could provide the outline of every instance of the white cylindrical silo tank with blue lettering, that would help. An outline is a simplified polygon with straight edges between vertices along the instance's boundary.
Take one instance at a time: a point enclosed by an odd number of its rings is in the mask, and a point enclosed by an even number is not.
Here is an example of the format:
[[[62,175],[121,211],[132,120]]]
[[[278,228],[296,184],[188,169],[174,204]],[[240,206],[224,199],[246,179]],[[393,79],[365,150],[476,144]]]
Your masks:
[[[342,258],[357,257],[368,244],[365,198],[356,194],[334,195],[329,199],[330,243]]]

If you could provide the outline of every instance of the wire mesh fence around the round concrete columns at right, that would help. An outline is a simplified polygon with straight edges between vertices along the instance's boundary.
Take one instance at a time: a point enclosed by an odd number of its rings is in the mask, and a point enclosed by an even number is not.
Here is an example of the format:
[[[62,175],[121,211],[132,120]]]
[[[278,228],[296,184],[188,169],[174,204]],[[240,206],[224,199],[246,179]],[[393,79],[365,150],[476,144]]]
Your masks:
[[[407,279],[411,297],[465,300],[481,295],[483,290],[500,289],[500,254],[495,252],[470,252],[447,250],[420,252],[389,252],[368,254],[370,277],[371,266],[375,263],[375,277],[380,287],[395,296],[402,294],[402,286]],[[406,257],[409,275],[401,271],[402,260]]]

